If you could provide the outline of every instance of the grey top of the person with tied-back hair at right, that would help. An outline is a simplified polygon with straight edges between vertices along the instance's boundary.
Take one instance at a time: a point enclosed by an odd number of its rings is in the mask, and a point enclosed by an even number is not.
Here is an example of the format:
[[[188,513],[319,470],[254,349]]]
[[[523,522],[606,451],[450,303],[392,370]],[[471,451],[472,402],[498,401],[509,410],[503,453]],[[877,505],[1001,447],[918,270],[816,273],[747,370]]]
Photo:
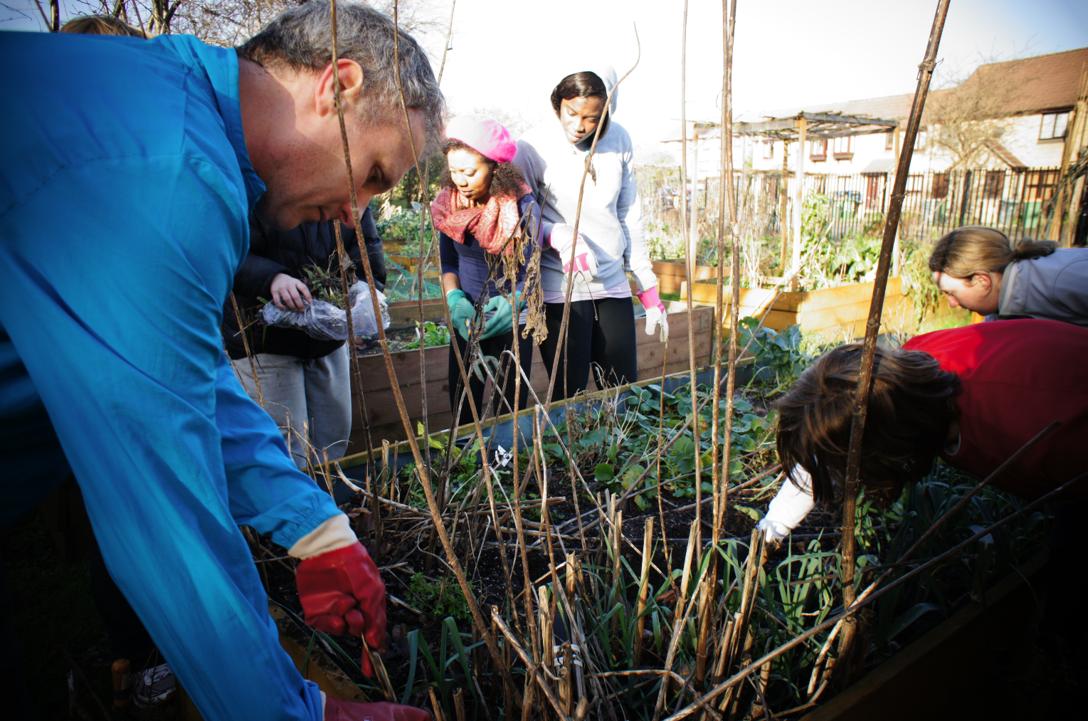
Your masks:
[[[1088,248],[1063,248],[1006,265],[998,294],[998,320],[1004,316],[1088,327]]]

